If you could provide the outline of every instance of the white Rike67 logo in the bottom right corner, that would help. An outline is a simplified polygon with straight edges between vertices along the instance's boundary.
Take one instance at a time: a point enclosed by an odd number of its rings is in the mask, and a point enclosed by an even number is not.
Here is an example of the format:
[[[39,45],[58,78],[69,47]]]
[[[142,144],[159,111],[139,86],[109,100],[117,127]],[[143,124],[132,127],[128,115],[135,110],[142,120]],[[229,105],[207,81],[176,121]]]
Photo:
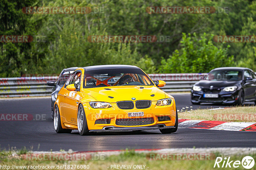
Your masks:
[[[225,157],[222,159],[222,157],[217,157],[214,163],[214,168],[215,167],[222,167],[222,168],[237,168],[240,165],[242,165],[245,169],[251,169],[254,166],[254,159],[251,156],[245,156],[242,161],[240,160],[230,160],[230,157]]]

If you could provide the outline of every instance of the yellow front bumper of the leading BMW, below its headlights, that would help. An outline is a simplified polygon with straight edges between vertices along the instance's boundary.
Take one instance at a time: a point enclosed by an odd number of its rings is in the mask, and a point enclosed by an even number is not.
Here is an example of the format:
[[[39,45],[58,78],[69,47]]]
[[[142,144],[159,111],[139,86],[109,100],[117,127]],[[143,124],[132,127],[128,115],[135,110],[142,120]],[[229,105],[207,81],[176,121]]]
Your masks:
[[[89,131],[138,131],[138,130],[153,130],[153,129],[167,129],[175,128],[176,120],[176,106],[175,101],[171,105],[157,106],[156,101],[152,101],[151,106],[147,109],[137,109],[134,107],[131,110],[119,109],[116,103],[111,103],[112,107],[107,109],[93,109],[89,103],[84,103],[84,111]],[[130,112],[144,112],[144,116],[128,117]],[[170,117],[170,120],[159,121],[159,116]],[[150,118],[152,121],[150,124],[142,125],[117,125],[116,120],[125,119],[131,121],[132,119],[144,119]],[[108,123],[95,124],[96,120],[108,119]],[[110,119],[110,121],[109,121]]]

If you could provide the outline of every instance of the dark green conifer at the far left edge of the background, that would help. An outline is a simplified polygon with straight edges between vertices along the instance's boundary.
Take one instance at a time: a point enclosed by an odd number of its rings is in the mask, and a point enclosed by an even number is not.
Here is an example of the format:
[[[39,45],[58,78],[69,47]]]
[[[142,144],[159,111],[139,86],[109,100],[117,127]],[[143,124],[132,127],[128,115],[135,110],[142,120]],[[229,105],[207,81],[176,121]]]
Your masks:
[[[41,26],[33,15],[22,13],[25,6],[40,6],[37,0],[1,0],[0,35],[35,35]],[[0,43],[0,77],[17,77],[37,61],[33,43]],[[33,67],[34,68],[34,67]]]

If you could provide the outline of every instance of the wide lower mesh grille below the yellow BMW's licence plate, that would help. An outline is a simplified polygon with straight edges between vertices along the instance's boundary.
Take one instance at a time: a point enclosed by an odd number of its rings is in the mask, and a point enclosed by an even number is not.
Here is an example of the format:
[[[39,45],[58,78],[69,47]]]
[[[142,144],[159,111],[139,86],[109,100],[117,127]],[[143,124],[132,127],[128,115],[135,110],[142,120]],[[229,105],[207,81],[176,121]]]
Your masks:
[[[146,124],[153,124],[153,117],[130,118],[130,119],[116,119],[116,125],[121,126],[139,126]]]

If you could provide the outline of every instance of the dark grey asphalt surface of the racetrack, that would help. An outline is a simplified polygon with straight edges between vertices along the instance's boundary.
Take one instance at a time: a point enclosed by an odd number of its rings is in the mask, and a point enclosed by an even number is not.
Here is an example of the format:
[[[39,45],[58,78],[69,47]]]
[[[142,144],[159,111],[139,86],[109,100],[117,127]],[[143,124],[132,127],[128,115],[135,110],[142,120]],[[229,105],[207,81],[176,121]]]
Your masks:
[[[177,109],[193,106],[193,109],[227,107],[226,105],[192,105],[189,94],[173,94]],[[252,104],[252,103],[249,103]],[[217,110],[216,110],[217,111]],[[178,129],[173,134],[161,134],[159,130],[92,133],[80,136],[57,134],[51,120],[50,98],[0,100],[0,114],[32,114],[40,120],[0,121],[0,148],[24,146],[33,151],[101,151],[119,149],[160,149],[192,147],[256,147],[255,132],[217,131],[204,129]],[[43,116],[43,119],[42,119]],[[45,116],[45,118],[44,118]]]

